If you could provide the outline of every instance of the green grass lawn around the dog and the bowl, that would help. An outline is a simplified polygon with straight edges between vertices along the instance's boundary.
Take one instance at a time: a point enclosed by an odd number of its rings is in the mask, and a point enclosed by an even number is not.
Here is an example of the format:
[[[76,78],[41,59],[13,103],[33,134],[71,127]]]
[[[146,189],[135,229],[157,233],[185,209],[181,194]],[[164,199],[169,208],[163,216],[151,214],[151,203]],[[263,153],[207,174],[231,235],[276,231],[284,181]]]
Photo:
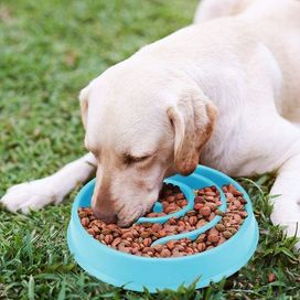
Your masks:
[[[196,0],[0,1],[0,196],[83,154],[78,90],[140,46],[192,21]],[[124,291],[82,270],[66,246],[74,191],[60,206],[0,211],[0,299],[300,299],[300,258],[271,225],[272,178],[242,180],[260,227],[251,261],[218,285]],[[268,274],[276,281],[269,283]]]

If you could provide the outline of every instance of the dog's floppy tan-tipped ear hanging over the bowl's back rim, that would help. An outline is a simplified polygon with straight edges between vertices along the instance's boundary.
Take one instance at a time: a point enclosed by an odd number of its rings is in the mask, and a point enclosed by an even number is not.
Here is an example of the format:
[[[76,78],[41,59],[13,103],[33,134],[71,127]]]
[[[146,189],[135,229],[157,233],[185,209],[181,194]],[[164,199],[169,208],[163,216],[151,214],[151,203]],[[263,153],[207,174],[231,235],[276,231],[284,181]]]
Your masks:
[[[199,164],[202,147],[210,139],[216,107],[202,93],[185,94],[167,110],[174,130],[174,165],[182,175],[191,174]]]

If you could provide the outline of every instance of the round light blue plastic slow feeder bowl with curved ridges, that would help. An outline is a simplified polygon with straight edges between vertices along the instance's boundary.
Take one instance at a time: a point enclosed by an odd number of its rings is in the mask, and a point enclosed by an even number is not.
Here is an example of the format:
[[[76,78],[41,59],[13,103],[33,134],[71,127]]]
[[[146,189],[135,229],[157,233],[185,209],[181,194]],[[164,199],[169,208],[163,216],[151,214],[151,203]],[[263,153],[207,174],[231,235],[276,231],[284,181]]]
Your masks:
[[[142,291],[143,287],[150,292],[158,289],[178,289],[179,286],[189,286],[197,279],[196,288],[203,288],[211,281],[217,282],[228,277],[247,264],[258,243],[258,226],[255,219],[249,196],[245,190],[227,175],[206,167],[197,167],[189,176],[174,175],[164,180],[165,183],[178,185],[185,194],[188,205],[173,214],[162,217],[141,217],[138,223],[164,223],[172,216],[182,216],[192,210],[193,190],[215,185],[221,192],[221,211],[226,211],[226,200],[222,186],[232,183],[243,192],[247,201],[245,208],[248,216],[239,231],[224,244],[210,250],[183,257],[149,258],[118,251],[93,238],[82,226],[77,210],[90,206],[90,199],[95,180],[87,183],[77,194],[72,208],[72,217],[67,229],[67,243],[75,260],[90,275],[98,279],[125,289]],[[160,204],[154,211],[160,210]],[[215,226],[221,219],[216,216],[203,227],[193,232],[167,236],[156,240],[163,244],[168,240],[188,237],[196,238],[201,233]]]

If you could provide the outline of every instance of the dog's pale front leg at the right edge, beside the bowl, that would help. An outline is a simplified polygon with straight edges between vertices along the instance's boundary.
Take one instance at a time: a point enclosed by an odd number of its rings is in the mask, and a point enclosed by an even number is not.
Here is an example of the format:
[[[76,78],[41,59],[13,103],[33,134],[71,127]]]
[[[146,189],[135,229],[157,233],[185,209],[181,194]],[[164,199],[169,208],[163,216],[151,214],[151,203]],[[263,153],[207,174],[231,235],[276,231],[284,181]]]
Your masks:
[[[271,189],[274,211],[271,221],[286,227],[288,236],[300,237],[300,152],[287,160],[278,171]],[[298,232],[297,232],[298,228]],[[300,242],[297,244],[300,248]]]

